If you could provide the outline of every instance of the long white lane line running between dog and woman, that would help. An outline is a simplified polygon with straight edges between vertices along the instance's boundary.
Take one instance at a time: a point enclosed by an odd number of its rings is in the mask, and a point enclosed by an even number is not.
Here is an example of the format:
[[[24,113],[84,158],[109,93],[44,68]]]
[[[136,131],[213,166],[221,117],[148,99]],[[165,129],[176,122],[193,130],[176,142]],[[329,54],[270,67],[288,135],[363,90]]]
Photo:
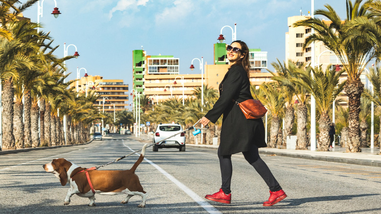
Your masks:
[[[123,140],[122,140],[123,141]],[[135,152],[131,148],[129,148],[125,142],[123,141],[123,145],[127,147],[132,152]],[[140,156],[140,154],[136,155]],[[194,193],[191,189],[189,189],[187,186],[185,186],[183,183],[181,183],[179,180],[174,178],[172,175],[170,175],[167,171],[163,170],[161,167],[154,164],[152,161],[148,160],[147,158],[144,158],[145,161],[147,161],[150,165],[152,165],[154,168],[156,168],[158,171],[163,173],[170,181],[172,181],[174,184],[176,184],[182,191],[187,193],[197,204],[199,204],[204,210],[206,210],[210,214],[222,214],[220,211],[215,209],[210,203],[205,201],[202,197],[200,197],[198,194]]]

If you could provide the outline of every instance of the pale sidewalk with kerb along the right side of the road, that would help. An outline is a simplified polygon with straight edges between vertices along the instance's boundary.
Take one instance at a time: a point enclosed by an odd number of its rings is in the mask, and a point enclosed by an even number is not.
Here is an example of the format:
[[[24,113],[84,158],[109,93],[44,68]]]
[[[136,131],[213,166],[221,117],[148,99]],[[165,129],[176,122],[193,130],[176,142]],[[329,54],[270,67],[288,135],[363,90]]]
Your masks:
[[[218,146],[214,145],[195,145],[187,144],[188,147],[199,147],[218,149]],[[331,148],[330,151],[311,151],[309,150],[282,150],[275,148],[260,148],[260,154],[269,154],[285,157],[303,158],[310,160],[329,161],[346,164],[357,164],[362,166],[381,167],[381,155],[380,148],[375,149],[361,148],[361,152],[345,152],[345,148],[336,146]]]

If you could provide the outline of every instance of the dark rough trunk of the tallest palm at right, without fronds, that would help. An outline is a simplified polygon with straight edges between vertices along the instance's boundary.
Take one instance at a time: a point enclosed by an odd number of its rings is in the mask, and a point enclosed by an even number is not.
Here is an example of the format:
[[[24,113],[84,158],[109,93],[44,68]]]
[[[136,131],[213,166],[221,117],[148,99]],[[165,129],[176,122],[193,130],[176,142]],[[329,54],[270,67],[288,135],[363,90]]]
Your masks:
[[[348,142],[347,152],[360,152],[360,97],[363,91],[363,84],[360,79],[347,80],[344,87],[348,95]]]

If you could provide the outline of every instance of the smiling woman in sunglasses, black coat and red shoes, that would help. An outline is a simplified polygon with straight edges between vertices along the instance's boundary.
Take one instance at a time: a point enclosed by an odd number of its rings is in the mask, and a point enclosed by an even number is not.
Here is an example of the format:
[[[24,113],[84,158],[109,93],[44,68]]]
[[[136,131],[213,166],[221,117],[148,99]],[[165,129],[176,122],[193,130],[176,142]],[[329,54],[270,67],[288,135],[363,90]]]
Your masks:
[[[248,120],[238,105],[234,103],[253,99],[249,82],[249,48],[242,41],[227,45],[227,58],[230,67],[219,86],[220,97],[213,108],[201,118],[204,126],[215,123],[223,114],[221,141],[217,154],[220,161],[222,185],[219,192],[206,195],[205,198],[230,204],[232,179],[232,154],[242,152],[245,159],[260,174],[270,188],[270,198],[263,206],[272,206],[287,195],[259,157],[258,148],[266,147],[265,128],[262,119]]]

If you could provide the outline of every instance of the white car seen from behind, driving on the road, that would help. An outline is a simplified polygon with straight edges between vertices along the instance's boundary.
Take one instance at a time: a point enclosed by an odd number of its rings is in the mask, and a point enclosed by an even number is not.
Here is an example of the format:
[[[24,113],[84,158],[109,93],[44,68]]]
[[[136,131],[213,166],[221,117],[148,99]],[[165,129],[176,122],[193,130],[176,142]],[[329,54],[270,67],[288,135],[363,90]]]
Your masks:
[[[176,135],[169,138],[174,134]],[[162,148],[178,148],[179,151],[185,151],[185,132],[179,124],[159,124],[153,134],[152,144],[155,144],[152,151]]]

